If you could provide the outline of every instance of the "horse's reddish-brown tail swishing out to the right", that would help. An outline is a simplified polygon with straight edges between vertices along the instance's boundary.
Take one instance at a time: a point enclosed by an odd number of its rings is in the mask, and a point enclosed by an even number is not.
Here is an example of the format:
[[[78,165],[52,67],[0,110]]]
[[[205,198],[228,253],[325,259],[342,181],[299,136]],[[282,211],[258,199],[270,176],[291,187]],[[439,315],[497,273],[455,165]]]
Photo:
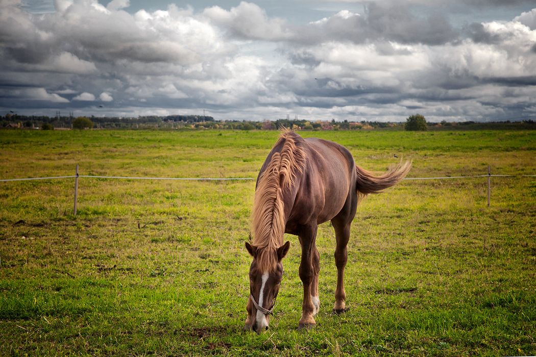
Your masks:
[[[403,180],[407,173],[410,172],[410,169],[410,161],[406,161],[405,163],[400,162],[396,166],[392,166],[381,176],[374,176],[372,171],[361,169],[356,165],[355,172],[358,176],[358,195],[364,196],[370,193],[381,193]]]

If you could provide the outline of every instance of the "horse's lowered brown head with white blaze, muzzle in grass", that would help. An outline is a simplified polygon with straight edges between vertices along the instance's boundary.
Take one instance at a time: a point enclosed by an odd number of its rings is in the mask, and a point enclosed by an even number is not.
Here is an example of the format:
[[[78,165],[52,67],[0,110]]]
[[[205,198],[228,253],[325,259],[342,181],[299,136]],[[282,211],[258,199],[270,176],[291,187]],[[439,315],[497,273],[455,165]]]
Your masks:
[[[279,286],[283,277],[282,259],[287,255],[291,242],[287,241],[277,249],[258,248],[245,243],[245,248],[253,257],[249,268],[249,300],[246,329],[263,332],[268,328],[270,315],[276,303]],[[266,256],[266,254],[270,256]],[[275,262],[275,264],[266,264]]]

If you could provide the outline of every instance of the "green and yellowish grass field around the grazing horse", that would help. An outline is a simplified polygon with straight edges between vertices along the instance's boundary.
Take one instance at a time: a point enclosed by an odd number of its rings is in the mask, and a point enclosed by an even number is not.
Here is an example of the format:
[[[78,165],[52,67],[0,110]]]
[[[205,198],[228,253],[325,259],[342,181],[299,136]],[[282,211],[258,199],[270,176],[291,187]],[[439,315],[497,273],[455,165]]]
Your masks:
[[[536,173],[536,131],[302,132],[368,170]],[[0,179],[255,178],[276,132],[0,131]],[[254,180],[0,182],[0,355],[536,355],[536,178],[406,180],[354,219],[333,315],[334,233],[319,227],[317,327],[297,331],[297,238],[270,329],[243,331]]]

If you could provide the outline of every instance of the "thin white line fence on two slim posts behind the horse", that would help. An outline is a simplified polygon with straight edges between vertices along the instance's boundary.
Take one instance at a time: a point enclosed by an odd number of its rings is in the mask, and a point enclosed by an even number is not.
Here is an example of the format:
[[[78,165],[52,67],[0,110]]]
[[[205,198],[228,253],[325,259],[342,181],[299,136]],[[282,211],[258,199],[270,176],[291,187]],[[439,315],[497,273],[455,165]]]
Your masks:
[[[78,201],[78,178],[107,178],[107,179],[131,179],[131,180],[190,180],[190,181],[232,181],[232,180],[256,180],[256,178],[177,178],[177,177],[126,177],[126,176],[90,176],[78,174],[78,165],[76,165],[75,174],[72,176],[53,176],[53,177],[36,177],[36,178],[21,178],[21,179],[6,179],[0,180],[0,182],[7,181],[28,181],[28,180],[47,180],[47,179],[63,179],[74,178],[75,179],[75,206],[74,215],[76,216],[77,201]],[[492,177],[536,177],[536,175],[492,175],[491,166],[488,166],[488,174],[476,175],[476,176],[446,176],[446,177],[410,177],[404,180],[444,180],[444,179],[461,179],[461,178],[475,178],[475,177],[487,177],[488,184],[488,207],[490,206],[491,199],[491,178]]]

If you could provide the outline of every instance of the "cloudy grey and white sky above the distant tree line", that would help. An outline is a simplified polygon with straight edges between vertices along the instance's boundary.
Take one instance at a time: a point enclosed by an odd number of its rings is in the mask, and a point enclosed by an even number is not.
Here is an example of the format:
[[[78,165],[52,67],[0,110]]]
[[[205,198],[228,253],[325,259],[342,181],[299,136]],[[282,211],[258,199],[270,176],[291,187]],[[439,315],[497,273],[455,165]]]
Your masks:
[[[0,115],[536,120],[535,0],[0,0]]]

